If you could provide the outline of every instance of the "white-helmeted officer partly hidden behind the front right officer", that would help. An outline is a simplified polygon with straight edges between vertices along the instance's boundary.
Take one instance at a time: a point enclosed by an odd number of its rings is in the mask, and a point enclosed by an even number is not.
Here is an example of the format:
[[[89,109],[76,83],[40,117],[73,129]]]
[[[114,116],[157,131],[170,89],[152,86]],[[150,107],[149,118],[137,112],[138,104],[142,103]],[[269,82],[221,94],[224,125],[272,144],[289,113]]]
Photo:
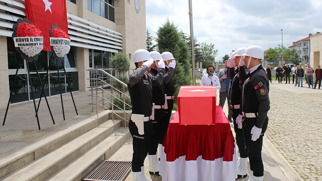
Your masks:
[[[245,52],[246,47],[239,48],[235,51],[234,56],[228,60],[229,66],[229,77],[232,80],[231,87],[229,89],[231,109],[232,109],[232,119],[234,123],[234,130],[236,133],[236,144],[239,150],[239,158],[237,158],[237,178],[247,177],[247,162],[248,154],[245,149],[245,140],[242,130],[242,89],[244,85],[244,80],[239,78],[239,67],[238,64],[242,61],[242,55]]]

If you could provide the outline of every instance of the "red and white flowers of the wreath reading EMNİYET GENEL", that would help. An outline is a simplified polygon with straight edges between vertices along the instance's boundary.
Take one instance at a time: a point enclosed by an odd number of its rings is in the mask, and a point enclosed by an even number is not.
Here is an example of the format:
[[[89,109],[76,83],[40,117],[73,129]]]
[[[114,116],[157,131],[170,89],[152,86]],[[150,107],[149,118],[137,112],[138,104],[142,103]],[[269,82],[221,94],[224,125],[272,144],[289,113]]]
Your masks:
[[[51,34],[51,39],[60,39],[60,40],[67,40],[71,41],[71,37],[68,36],[68,34],[66,32],[64,32],[63,30],[54,27],[52,29],[52,34]],[[66,42],[66,41],[64,41]],[[69,50],[71,49],[70,45],[52,45],[53,49],[57,55],[57,57],[65,57],[65,55],[67,55],[67,53],[69,52]]]

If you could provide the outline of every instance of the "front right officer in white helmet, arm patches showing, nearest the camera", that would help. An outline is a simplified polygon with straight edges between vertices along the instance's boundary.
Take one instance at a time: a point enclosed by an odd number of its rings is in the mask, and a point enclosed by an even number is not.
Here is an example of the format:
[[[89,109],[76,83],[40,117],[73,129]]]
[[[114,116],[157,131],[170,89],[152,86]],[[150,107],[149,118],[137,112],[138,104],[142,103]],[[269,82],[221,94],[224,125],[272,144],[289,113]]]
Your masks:
[[[264,59],[264,51],[259,46],[250,46],[243,54],[244,64],[250,69],[242,91],[242,129],[251,167],[248,181],[262,181],[264,176],[261,150],[270,98],[269,80],[260,65],[261,59]]]

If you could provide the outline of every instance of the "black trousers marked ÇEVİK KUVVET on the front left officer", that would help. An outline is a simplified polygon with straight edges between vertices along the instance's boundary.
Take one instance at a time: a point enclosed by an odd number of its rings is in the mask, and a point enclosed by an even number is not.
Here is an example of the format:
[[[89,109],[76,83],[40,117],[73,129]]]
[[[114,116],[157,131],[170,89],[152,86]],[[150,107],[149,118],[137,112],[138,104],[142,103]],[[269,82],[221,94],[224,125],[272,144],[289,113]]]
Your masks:
[[[149,138],[152,131],[152,120],[144,122],[144,134],[140,135],[137,131],[137,126],[130,119],[128,129],[133,138],[133,157],[132,157],[132,171],[140,172],[141,167],[144,166],[144,159],[147,157]]]

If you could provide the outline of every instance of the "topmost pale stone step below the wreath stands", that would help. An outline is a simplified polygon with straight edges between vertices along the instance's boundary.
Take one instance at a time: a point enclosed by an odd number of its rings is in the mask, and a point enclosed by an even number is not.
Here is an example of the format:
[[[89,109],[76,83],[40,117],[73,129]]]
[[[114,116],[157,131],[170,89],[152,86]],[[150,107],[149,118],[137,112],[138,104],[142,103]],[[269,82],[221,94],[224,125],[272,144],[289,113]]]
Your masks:
[[[51,129],[42,131],[49,134],[8,151],[0,157],[0,178],[13,173],[21,167],[37,160],[54,149],[79,137],[87,131],[109,120],[110,111],[93,113],[81,121],[66,120]],[[76,117],[76,116],[75,116]]]

